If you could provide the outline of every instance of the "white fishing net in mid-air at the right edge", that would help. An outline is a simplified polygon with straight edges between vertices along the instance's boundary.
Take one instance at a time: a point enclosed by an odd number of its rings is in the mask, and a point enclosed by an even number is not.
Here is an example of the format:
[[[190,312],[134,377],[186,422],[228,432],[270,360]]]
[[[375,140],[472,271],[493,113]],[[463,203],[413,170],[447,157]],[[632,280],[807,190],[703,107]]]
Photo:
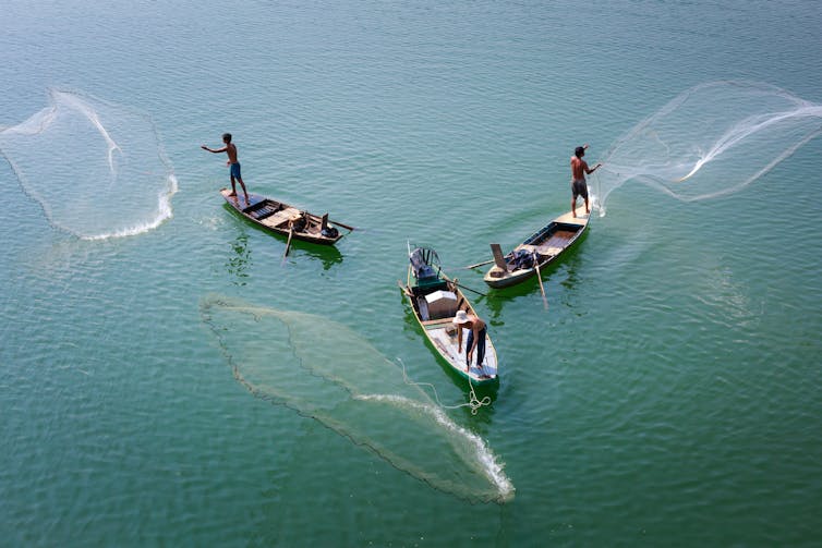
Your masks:
[[[593,178],[600,216],[634,180],[684,202],[748,186],[822,132],[822,105],[767,84],[710,82],[682,93],[606,153]]]

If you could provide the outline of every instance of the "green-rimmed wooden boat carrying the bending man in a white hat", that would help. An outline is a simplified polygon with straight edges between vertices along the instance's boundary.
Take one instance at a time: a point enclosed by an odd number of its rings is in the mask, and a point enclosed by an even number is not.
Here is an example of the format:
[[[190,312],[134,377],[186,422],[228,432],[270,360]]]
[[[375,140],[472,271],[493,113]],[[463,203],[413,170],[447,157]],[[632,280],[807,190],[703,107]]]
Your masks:
[[[434,249],[416,247],[412,251],[409,245],[408,279],[404,285],[402,282],[398,283],[408,297],[425,337],[455,372],[473,385],[497,380],[497,353],[487,332],[483,363],[478,366],[474,354],[471,367],[466,370],[468,331],[463,330],[462,348],[459,349],[458,327],[454,324],[454,317],[458,310],[473,315],[475,313],[460,291],[457,280],[451,280],[443,273]]]

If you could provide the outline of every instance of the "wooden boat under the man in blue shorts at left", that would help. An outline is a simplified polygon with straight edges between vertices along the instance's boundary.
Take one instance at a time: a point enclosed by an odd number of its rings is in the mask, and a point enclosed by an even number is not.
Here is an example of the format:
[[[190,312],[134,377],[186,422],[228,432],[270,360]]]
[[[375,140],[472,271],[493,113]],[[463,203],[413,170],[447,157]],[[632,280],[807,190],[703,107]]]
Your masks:
[[[276,199],[249,193],[249,203],[243,196],[229,196],[228,188],[221,188],[220,194],[237,212],[253,223],[288,236],[293,230],[292,238],[315,244],[331,245],[343,236],[339,229],[353,230],[353,227],[341,222],[329,221],[328,214],[323,216],[300,210]]]

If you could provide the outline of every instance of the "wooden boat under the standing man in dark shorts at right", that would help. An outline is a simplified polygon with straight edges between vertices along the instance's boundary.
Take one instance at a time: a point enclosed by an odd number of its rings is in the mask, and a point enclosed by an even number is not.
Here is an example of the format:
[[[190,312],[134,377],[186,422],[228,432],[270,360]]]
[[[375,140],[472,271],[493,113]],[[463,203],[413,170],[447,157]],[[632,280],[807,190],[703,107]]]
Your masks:
[[[491,244],[494,266],[483,280],[492,288],[507,288],[531,278],[536,268],[542,271],[579,240],[588,228],[589,217],[584,205],[580,205],[577,217],[570,212],[557,217],[505,256],[499,244]]]

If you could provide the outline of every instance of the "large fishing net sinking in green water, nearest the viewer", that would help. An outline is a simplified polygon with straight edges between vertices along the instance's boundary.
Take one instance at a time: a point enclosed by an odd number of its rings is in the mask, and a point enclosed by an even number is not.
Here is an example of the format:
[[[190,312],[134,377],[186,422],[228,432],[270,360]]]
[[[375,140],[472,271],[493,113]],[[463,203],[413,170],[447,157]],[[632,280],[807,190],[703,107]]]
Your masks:
[[[485,441],[344,326],[218,295],[203,300],[201,315],[255,397],[316,419],[436,489],[472,502],[513,498]]]

